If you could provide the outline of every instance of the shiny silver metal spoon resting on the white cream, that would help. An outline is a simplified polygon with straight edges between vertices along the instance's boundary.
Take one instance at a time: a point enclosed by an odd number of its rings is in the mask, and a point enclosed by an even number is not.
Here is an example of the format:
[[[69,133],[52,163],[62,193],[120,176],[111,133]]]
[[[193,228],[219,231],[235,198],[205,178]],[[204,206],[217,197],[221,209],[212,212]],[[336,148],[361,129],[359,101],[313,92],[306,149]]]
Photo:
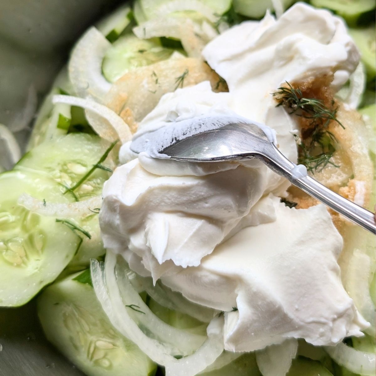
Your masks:
[[[229,124],[174,141],[160,153],[178,161],[219,162],[256,158],[275,173],[350,221],[376,234],[374,213],[329,190],[310,176],[297,177],[296,165],[255,124]]]

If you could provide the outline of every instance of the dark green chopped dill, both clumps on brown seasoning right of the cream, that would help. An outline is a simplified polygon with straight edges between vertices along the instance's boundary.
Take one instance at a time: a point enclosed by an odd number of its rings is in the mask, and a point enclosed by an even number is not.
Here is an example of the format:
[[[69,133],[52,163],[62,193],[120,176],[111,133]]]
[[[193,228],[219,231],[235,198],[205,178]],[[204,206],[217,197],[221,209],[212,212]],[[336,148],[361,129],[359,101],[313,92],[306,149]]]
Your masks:
[[[334,107],[334,99],[331,108],[328,108],[319,99],[305,98],[299,86],[294,88],[290,83],[286,83],[288,87],[280,87],[272,93],[278,102],[277,107],[284,106],[290,110],[290,114],[311,119],[308,129],[304,131],[304,139],[294,135],[299,152],[298,163],[305,165],[312,174],[323,170],[328,164],[339,167],[332,161],[337,139],[327,129],[331,121],[344,129],[336,117],[338,107]]]

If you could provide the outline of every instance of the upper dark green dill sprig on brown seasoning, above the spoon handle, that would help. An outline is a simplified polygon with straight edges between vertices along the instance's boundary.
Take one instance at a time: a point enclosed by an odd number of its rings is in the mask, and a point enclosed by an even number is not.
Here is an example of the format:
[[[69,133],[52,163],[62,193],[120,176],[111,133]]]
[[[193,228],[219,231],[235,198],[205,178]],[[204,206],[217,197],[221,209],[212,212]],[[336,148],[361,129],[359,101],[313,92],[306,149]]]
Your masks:
[[[323,126],[326,127],[331,120],[340,124],[344,129],[344,126],[336,118],[338,108],[333,108],[334,99],[332,100],[332,108],[327,108],[323,101],[314,98],[305,98],[300,90],[299,86],[293,88],[290,83],[286,81],[288,87],[280,87],[278,91],[272,93],[273,97],[276,97],[278,106],[284,106],[291,109],[290,114],[295,114],[307,119],[317,119],[320,122],[324,121]],[[301,110],[300,112],[298,112]]]

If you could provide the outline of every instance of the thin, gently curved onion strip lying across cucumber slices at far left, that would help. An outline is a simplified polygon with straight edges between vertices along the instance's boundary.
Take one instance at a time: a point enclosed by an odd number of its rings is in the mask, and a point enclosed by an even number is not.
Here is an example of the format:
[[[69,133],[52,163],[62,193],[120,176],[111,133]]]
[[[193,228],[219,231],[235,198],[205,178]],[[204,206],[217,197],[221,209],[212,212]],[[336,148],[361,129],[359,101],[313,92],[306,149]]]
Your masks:
[[[32,212],[49,217],[86,217],[92,214],[90,210],[102,206],[102,197],[94,196],[88,200],[70,203],[50,203],[24,193],[19,197],[18,204]]]

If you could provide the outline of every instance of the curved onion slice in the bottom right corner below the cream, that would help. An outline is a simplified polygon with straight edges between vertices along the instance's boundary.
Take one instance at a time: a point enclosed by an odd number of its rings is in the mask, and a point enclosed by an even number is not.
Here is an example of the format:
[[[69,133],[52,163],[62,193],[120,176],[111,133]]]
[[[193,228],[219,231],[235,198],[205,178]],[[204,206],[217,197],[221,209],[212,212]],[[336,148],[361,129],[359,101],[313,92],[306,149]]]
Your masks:
[[[376,354],[367,353],[346,346],[343,342],[337,346],[325,346],[326,352],[336,363],[356,374],[376,375]]]

